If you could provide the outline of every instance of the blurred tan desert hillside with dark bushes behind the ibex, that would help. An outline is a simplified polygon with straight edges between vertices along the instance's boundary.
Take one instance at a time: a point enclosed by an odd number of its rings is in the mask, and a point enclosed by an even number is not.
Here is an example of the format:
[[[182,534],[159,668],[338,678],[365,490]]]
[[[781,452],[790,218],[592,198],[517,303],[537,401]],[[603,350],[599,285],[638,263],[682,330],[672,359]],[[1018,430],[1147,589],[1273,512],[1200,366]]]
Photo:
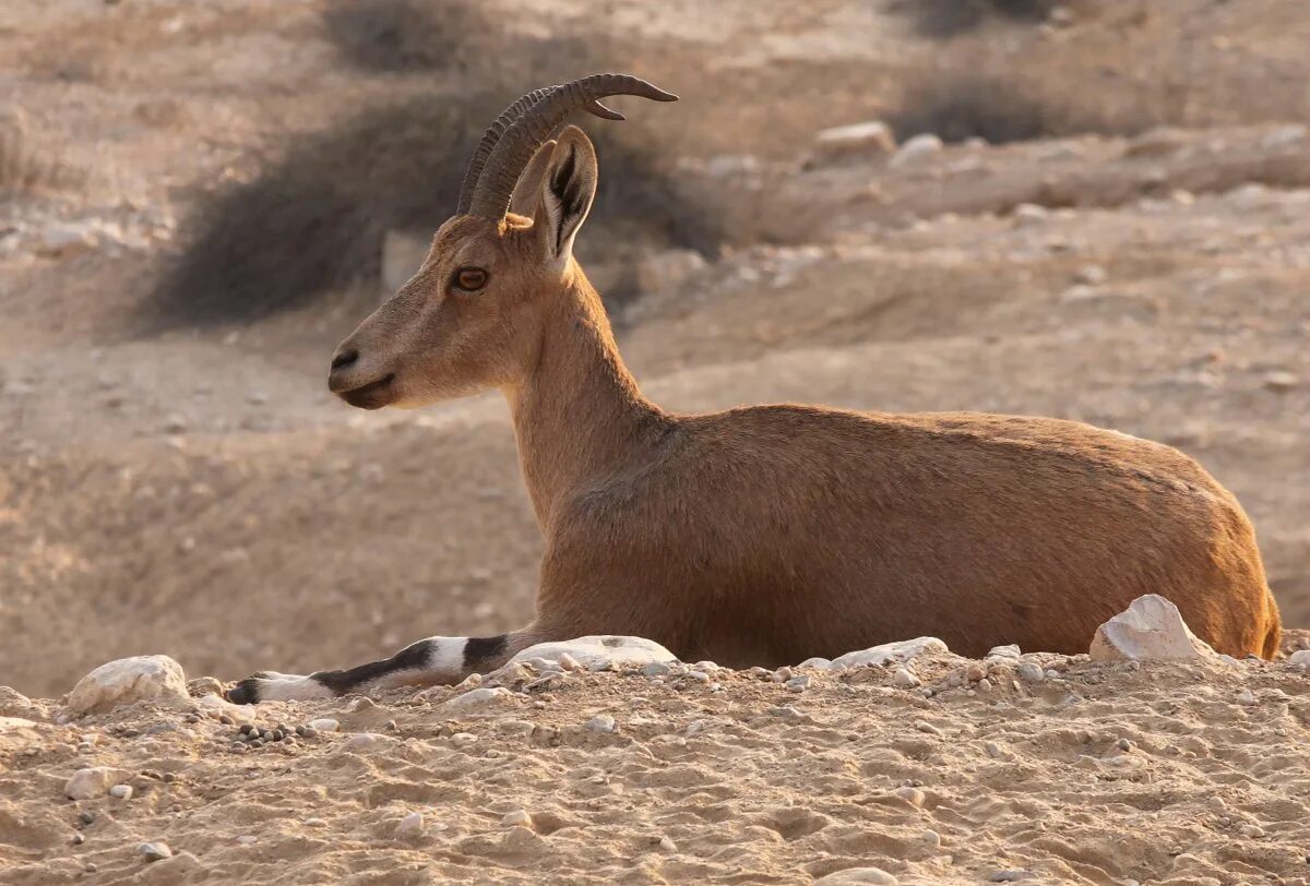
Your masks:
[[[579,254],[647,394],[1081,419],[1251,513],[1310,624],[1303,0],[4,0],[0,683],[308,671],[531,618],[487,395],[339,339],[499,110],[618,69]]]

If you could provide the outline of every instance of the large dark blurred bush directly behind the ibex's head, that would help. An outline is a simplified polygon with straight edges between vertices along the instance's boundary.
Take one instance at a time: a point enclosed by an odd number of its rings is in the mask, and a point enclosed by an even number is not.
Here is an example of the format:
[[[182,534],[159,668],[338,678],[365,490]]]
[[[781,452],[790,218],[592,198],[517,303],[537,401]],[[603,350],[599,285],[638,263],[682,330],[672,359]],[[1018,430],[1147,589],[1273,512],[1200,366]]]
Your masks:
[[[297,139],[254,181],[200,200],[189,246],[143,306],[151,326],[249,322],[356,279],[376,279],[386,230],[430,229],[455,209],[464,168],[507,93],[371,109]],[[714,254],[713,212],[671,158],[620,127],[591,127],[601,181],[580,258],[634,243]],[[630,293],[607,293],[624,298]]]

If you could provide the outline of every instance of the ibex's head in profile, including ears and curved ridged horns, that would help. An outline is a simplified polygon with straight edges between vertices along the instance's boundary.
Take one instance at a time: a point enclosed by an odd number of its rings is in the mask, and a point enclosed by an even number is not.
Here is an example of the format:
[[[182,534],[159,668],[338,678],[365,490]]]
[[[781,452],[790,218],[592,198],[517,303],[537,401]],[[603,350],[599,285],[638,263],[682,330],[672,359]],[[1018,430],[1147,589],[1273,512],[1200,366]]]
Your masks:
[[[574,237],[596,195],[596,151],[582,130],[546,137],[578,109],[624,119],[600,103],[607,96],[677,99],[605,73],[537,89],[507,107],[482,136],[456,215],[436,232],[423,267],[341,343],[328,378],[333,393],[376,410],[524,377],[544,318],[575,274]]]

